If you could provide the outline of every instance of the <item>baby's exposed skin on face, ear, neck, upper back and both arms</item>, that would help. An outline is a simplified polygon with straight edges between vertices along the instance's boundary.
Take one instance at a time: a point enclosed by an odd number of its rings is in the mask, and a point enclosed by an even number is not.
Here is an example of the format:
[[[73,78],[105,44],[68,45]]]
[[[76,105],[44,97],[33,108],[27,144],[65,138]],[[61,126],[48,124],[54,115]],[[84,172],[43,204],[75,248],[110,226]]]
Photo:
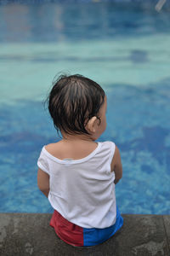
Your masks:
[[[70,135],[65,134],[65,132],[61,131],[63,139],[60,140],[58,143],[48,144],[47,146],[45,146],[45,149],[48,151],[49,154],[52,154],[59,160],[64,160],[67,158],[78,160],[88,156],[88,154],[91,154],[98,146],[98,143],[95,143],[95,140],[99,138],[99,136],[105,131],[106,128],[106,108],[107,100],[105,97],[105,102],[99,110],[99,117],[101,119],[100,124],[99,119],[93,117],[92,119],[88,120],[88,124],[86,125],[86,129],[90,133],[90,135],[77,135],[74,133]],[[111,172],[115,172],[114,183],[118,183],[119,180],[122,178],[122,162],[121,155],[117,147],[111,161]],[[42,193],[48,197],[49,176],[40,168],[37,172],[37,185]]]

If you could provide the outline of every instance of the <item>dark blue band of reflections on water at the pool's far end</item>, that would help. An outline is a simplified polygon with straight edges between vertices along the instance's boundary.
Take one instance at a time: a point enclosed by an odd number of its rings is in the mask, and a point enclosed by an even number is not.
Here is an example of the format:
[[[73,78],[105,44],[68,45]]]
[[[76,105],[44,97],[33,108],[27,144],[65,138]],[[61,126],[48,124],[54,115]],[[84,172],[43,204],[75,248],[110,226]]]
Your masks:
[[[169,31],[154,3],[11,3],[0,6],[0,42],[57,42]]]

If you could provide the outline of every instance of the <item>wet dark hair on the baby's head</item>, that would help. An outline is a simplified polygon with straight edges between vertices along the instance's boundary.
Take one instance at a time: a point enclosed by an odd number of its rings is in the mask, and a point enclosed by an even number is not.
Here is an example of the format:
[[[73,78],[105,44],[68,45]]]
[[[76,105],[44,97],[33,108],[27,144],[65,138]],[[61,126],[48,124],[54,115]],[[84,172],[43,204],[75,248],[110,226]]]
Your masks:
[[[57,131],[89,134],[85,122],[93,116],[99,119],[104,100],[105,91],[93,80],[79,74],[61,75],[49,93],[48,110]]]

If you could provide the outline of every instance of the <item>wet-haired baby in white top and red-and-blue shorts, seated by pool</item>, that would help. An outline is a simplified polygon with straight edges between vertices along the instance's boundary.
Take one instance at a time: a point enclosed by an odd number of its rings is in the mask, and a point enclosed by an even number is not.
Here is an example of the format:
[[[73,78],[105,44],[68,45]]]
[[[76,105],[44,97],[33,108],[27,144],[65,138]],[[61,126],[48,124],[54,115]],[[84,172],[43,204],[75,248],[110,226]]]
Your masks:
[[[81,75],[60,76],[48,110],[62,139],[42,148],[37,184],[54,208],[50,225],[73,246],[94,246],[123,224],[115,184],[122,162],[115,143],[96,140],[105,131],[105,91]]]

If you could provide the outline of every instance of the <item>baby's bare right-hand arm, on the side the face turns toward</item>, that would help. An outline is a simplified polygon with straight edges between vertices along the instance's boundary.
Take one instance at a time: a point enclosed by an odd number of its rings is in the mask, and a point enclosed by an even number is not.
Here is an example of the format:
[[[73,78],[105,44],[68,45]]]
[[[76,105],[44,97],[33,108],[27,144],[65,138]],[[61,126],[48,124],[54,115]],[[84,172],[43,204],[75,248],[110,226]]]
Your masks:
[[[122,161],[121,161],[121,154],[119,149],[115,148],[115,154],[111,161],[111,172],[115,172],[115,180],[114,183],[118,183],[119,180],[122,178]]]

